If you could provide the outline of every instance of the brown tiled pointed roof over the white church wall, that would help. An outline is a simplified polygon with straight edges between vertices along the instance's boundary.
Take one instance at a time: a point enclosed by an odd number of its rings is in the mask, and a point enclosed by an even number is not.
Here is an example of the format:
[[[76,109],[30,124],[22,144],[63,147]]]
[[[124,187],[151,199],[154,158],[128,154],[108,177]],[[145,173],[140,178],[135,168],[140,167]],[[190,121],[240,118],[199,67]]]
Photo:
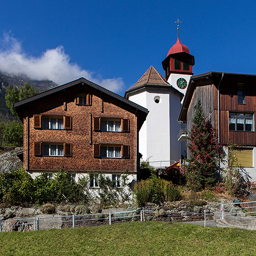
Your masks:
[[[150,66],[149,69],[142,75],[142,77],[138,80],[137,83],[135,83],[134,86],[132,86],[130,89],[128,89],[125,92],[125,98],[127,98],[127,94],[132,91],[136,91],[138,89],[144,88],[144,87],[155,87],[155,88],[169,88],[173,91],[177,92],[181,96],[183,96],[183,93],[176,90],[169,82],[165,80],[165,78],[153,67]]]

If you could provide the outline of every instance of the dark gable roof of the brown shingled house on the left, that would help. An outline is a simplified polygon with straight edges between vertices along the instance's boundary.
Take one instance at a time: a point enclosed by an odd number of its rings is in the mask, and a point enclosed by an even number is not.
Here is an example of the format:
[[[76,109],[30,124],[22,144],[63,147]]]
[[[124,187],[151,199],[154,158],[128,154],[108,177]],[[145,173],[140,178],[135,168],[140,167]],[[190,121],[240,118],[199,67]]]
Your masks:
[[[46,98],[49,95],[54,95],[54,94],[56,94],[56,93],[58,93],[60,91],[64,91],[64,90],[66,90],[68,88],[76,86],[78,84],[87,85],[87,86],[91,87],[91,89],[93,89],[94,91],[101,92],[101,93],[105,94],[106,96],[112,98],[115,101],[121,102],[124,105],[127,105],[127,106],[131,107],[132,109],[140,111],[140,113],[143,116],[145,116],[145,119],[146,119],[146,115],[148,113],[148,110],[146,108],[144,108],[144,107],[142,107],[142,106],[140,106],[140,105],[138,105],[138,104],[136,104],[136,103],[134,103],[132,101],[129,101],[129,100],[123,98],[122,96],[120,96],[120,95],[118,95],[118,94],[116,94],[116,93],[114,93],[112,91],[109,91],[109,90],[101,87],[100,85],[98,85],[96,83],[93,83],[93,82],[91,82],[91,81],[89,81],[89,80],[87,80],[87,79],[85,79],[83,77],[81,77],[81,78],[79,78],[77,80],[74,80],[72,82],[68,82],[68,83],[65,83],[63,85],[57,86],[57,87],[55,87],[53,89],[50,89],[48,91],[41,92],[41,93],[39,93],[39,94],[37,94],[35,96],[32,96],[32,97],[29,97],[29,98],[27,98],[25,100],[18,101],[16,103],[14,103],[14,109],[17,111],[18,116],[21,117],[21,119],[22,119],[22,117],[23,117],[23,115],[22,115],[23,107],[25,107],[25,106],[27,106],[27,105],[29,105],[31,103],[34,103],[37,100],[41,100],[43,98]]]

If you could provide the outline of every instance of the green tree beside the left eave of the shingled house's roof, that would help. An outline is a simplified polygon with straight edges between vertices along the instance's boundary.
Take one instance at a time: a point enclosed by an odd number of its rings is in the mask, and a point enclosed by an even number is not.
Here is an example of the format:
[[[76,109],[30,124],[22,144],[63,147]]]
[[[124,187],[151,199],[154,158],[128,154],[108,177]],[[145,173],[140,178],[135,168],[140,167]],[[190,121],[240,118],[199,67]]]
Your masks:
[[[16,87],[10,85],[6,88],[5,103],[6,106],[11,110],[11,113],[18,118],[18,115],[13,107],[13,104],[17,101],[22,101],[38,93],[38,88],[34,88],[28,82],[25,82],[24,86],[21,84]]]

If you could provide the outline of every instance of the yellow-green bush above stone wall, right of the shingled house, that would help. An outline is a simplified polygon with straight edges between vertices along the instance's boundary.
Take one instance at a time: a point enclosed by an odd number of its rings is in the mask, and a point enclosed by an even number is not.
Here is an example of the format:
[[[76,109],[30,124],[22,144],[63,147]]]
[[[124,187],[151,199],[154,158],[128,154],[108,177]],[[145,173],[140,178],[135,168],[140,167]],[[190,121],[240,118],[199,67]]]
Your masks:
[[[181,197],[180,191],[174,187],[171,181],[157,178],[155,175],[146,181],[137,182],[134,192],[138,205],[143,202],[176,201]]]

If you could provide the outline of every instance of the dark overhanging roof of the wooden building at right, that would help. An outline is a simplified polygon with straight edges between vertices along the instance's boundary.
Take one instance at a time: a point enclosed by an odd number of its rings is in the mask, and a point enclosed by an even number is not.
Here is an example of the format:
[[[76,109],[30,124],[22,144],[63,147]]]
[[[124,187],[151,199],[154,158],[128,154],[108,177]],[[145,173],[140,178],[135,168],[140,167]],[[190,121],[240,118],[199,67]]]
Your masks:
[[[219,82],[221,81],[221,76],[247,76],[247,77],[254,77],[256,78],[256,74],[245,74],[245,73],[229,73],[229,72],[216,72],[216,71],[210,71],[207,73],[201,73],[198,75],[193,75],[190,78],[188,88],[186,91],[186,94],[184,96],[184,101],[179,113],[178,121],[183,122],[187,120],[187,112],[188,108],[194,93],[194,90],[196,88],[197,80],[203,79],[203,78],[212,78],[212,77],[219,77]]]

